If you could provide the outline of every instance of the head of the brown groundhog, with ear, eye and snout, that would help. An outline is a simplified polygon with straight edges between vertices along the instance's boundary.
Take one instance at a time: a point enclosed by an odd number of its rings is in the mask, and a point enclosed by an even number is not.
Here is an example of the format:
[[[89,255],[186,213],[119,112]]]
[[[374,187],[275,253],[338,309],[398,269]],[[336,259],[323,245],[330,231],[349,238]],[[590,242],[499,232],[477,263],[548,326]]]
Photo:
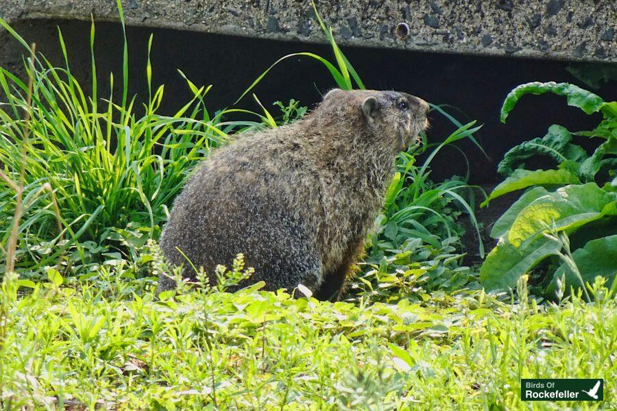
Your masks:
[[[330,90],[324,96],[326,110],[348,112],[361,117],[376,138],[404,150],[419,140],[428,126],[428,103],[406,92],[379,90]]]

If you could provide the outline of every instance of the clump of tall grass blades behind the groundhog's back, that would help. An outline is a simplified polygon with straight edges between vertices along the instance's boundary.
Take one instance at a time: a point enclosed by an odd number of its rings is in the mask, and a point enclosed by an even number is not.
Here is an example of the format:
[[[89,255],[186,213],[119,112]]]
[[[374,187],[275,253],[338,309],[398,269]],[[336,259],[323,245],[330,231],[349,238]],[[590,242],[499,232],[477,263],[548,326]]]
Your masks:
[[[29,49],[19,34],[1,23]],[[55,264],[63,255],[66,270],[84,271],[99,262],[102,253],[126,255],[127,242],[141,245],[156,238],[167,219],[167,205],[192,167],[225,142],[230,130],[245,125],[223,123],[222,111],[210,115],[204,105],[210,86],[197,87],[188,79],[190,101],[172,116],[158,114],[164,87],[152,88],[152,37],[146,70],[150,92],[141,110],[125,92],[106,99],[97,95],[94,55],[92,92],[85,95],[71,73],[60,31],[58,36],[66,66],[53,66],[43,55],[32,53],[27,64],[32,91],[28,83],[0,68],[5,96],[0,105],[0,163],[8,178],[23,183],[25,193],[16,247],[16,269],[23,275]],[[93,24],[92,50],[94,38]],[[114,81],[111,74],[110,89]],[[126,60],[122,82],[126,90]],[[0,192],[2,225],[14,221],[18,195],[14,190]],[[53,197],[62,210],[61,229],[56,227]],[[3,230],[1,242],[11,235],[11,230]]]

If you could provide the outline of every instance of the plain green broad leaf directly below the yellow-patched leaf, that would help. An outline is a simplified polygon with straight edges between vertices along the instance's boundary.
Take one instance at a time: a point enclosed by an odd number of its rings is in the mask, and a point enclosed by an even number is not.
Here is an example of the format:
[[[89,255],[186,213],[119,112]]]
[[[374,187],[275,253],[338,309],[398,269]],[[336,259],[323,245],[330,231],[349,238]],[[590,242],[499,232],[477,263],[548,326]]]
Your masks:
[[[536,238],[524,248],[500,241],[480,268],[480,282],[487,290],[514,288],[521,275],[528,273],[544,258],[557,254],[559,250],[559,242],[544,236]]]

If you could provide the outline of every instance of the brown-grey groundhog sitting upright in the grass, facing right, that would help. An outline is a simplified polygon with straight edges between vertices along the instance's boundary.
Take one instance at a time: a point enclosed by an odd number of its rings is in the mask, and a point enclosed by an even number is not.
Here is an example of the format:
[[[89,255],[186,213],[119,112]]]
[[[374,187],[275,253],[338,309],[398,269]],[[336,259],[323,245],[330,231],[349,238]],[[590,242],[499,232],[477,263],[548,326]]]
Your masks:
[[[241,135],[202,162],[160,238],[195,278],[243,253],[267,290],[303,284],[338,298],[383,202],[396,155],[428,125],[428,104],[404,92],[330,90],[302,119]],[[180,253],[180,251],[182,253]],[[183,256],[184,254],[184,256]],[[186,257],[185,257],[186,256]],[[161,275],[159,290],[175,284]]]

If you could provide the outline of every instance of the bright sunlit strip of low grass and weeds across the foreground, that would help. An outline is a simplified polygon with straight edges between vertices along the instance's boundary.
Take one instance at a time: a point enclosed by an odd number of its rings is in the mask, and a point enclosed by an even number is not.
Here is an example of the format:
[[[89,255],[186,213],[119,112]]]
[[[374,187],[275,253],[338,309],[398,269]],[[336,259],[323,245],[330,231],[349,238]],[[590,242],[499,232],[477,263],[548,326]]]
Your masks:
[[[122,273],[101,267],[69,284],[53,276],[25,294],[5,281],[4,409],[617,406],[617,301],[599,282],[594,304],[561,306],[528,298],[525,284],[516,300],[459,290],[329,303],[254,286],[156,301],[154,278]],[[521,403],[521,377],[603,377],[605,401]]]

